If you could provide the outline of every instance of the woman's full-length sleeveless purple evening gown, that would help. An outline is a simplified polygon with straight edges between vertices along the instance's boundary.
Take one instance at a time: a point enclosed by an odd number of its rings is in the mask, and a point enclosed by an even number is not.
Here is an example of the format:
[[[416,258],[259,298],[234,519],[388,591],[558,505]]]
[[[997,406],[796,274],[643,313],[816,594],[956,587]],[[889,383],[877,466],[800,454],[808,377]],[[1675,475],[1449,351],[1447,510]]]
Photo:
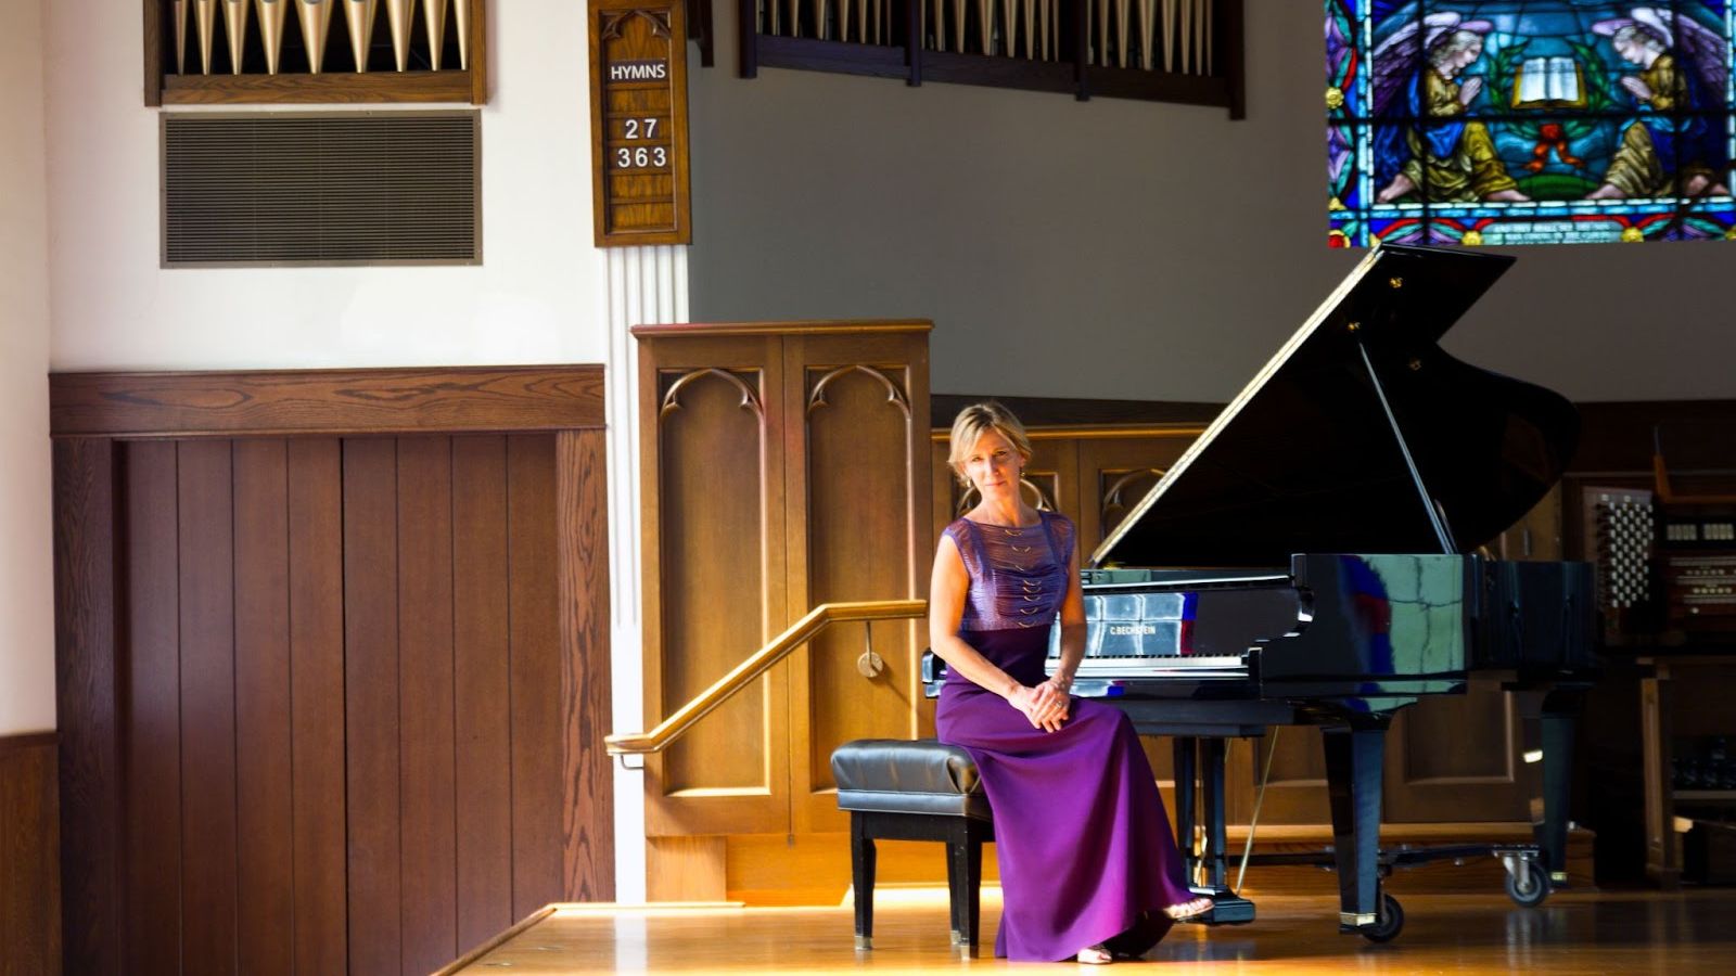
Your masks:
[[[1073,556],[1073,523],[1042,516],[1028,528],[946,526],[970,573],[958,636],[1023,684],[1045,679],[1049,629]],[[1125,714],[1073,698],[1066,724],[1049,733],[948,670],[934,717],[941,742],[976,759],[995,809],[1003,894],[995,955],[1054,962],[1137,922],[1147,943],[1167,933],[1161,910],[1193,893]]]

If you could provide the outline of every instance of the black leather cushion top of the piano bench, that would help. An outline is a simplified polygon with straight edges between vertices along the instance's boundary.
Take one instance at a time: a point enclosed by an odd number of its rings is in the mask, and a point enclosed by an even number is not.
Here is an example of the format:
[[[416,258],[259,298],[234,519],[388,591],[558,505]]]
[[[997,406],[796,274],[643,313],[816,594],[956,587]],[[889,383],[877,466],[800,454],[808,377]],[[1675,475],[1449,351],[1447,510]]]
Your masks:
[[[838,809],[990,820],[970,754],[932,738],[859,738],[832,752]]]

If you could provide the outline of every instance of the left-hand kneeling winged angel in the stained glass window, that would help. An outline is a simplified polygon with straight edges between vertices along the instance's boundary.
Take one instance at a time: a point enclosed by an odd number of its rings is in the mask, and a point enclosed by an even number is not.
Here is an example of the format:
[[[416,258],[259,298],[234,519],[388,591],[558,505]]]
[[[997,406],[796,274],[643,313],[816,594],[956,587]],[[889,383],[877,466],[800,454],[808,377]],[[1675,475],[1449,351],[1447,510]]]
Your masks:
[[[1463,120],[1483,78],[1458,75],[1483,57],[1495,24],[1455,12],[1411,19],[1373,54],[1375,200],[1418,195],[1439,203],[1529,200],[1507,175],[1483,122]],[[1418,57],[1420,54],[1420,57]]]

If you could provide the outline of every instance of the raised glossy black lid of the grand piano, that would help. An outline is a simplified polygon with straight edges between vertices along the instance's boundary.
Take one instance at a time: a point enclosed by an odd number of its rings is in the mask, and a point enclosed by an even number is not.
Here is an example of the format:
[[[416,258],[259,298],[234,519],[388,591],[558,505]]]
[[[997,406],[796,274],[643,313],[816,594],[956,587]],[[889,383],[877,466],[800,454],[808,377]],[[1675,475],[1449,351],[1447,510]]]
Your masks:
[[[1387,245],[1290,337],[1092,554],[1092,566],[1285,566],[1293,552],[1441,552],[1363,351],[1451,549],[1488,542],[1561,478],[1580,419],[1465,365],[1441,335],[1512,264]]]

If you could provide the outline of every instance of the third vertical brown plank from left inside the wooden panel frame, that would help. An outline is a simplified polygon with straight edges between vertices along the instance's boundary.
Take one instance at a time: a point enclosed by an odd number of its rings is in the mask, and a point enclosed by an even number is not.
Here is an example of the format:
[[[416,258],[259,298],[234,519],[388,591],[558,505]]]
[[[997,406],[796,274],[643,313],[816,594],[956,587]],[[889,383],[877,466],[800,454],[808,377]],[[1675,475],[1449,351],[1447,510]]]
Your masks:
[[[283,439],[234,443],[234,745],[240,959],[292,973],[290,509]]]

